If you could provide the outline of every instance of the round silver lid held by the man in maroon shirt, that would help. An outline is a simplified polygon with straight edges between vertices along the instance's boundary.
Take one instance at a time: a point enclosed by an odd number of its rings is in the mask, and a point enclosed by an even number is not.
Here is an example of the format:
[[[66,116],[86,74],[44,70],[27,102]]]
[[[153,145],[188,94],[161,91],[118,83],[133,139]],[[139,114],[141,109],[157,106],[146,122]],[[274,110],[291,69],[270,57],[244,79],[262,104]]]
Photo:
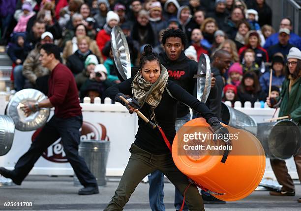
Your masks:
[[[44,124],[50,114],[50,108],[41,108],[35,113],[31,113],[30,116],[26,117],[22,106],[27,102],[41,102],[47,99],[47,97],[36,89],[23,89],[17,92],[9,101],[7,105],[7,115],[9,115],[14,123],[15,127],[19,131],[34,131]]]

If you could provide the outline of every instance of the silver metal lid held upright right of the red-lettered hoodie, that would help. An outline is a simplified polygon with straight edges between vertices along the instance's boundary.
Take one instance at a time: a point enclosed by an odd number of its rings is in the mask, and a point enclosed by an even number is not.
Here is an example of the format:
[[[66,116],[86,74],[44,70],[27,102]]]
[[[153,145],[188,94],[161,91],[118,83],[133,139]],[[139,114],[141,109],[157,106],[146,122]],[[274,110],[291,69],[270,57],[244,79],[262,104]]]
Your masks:
[[[206,103],[211,90],[211,66],[210,58],[202,53],[198,65],[197,75],[197,99]]]

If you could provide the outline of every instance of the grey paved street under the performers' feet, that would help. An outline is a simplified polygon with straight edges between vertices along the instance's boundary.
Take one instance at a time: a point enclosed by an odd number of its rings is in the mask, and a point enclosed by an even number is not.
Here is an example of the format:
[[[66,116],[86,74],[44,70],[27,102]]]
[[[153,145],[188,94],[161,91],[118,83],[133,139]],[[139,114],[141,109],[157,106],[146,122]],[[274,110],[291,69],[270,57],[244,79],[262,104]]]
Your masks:
[[[297,181],[296,181],[297,184]],[[51,210],[51,211],[99,211],[103,210],[118,185],[118,179],[111,178],[107,186],[100,187],[100,193],[79,196],[79,187],[73,185],[73,178],[60,176],[29,176],[21,186],[0,187],[0,210]],[[164,184],[166,211],[174,211],[174,187]],[[148,184],[139,184],[125,211],[150,211]],[[299,211],[301,203],[301,185],[296,185],[295,197],[270,196],[268,191],[255,191],[247,198],[226,205],[205,205],[206,211]],[[32,202],[32,207],[4,207],[4,202]]]

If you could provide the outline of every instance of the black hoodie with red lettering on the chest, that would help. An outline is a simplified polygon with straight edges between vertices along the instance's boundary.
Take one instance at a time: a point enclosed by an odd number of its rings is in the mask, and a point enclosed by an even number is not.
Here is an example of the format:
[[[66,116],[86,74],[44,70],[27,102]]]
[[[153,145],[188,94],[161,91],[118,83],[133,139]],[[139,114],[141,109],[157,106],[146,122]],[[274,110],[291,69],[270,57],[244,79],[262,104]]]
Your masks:
[[[171,61],[166,53],[159,55],[161,64],[166,67],[169,79],[175,81],[183,89],[193,94],[196,79],[193,78],[198,71],[198,63],[187,58],[182,52],[176,61]],[[177,107],[177,118],[183,117],[189,113],[189,108],[182,103]]]

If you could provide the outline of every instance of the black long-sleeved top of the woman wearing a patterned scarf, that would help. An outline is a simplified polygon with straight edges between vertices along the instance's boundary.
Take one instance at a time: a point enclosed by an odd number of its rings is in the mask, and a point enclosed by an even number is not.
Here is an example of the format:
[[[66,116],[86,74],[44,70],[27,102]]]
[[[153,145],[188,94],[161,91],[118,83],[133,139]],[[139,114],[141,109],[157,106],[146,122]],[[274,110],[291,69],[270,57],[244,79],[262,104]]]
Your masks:
[[[106,90],[105,95],[107,97],[110,97],[112,100],[114,100],[115,96],[120,92],[125,95],[133,96],[133,89],[131,86],[132,81],[133,78],[127,79],[115,86],[109,87]],[[177,117],[176,109],[178,101],[181,101],[186,105],[192,107],[194,110],[202,113],[202,116],[206,119],[206,121],[208,121],[208,119],[210,119],[211,117],[214,117],[214,115],[210,112],[210,110],[204,103],[201,103],[196,98],[191,96],[188,92],[186,92],[175,82],[168,80],[168,84],[166,85],[166,87],[168,88],[172,96],[177,100],[171,97],[166,91],[166,89],[164,89],[161,102],[154,109],[154,113],[156,122],[165,132],[167,139],[172,144],[176,135],[175,122]],[[151,107],[149,104],[145,103],[144,106],[141,107],[140,111],[147,118],[150,118]],[[158,130],[151,129],[140,117],[138,121],[138,126],[139,128],[134,143],[139,148],[156,155],[170,153],[162,138],[162,135]]]

